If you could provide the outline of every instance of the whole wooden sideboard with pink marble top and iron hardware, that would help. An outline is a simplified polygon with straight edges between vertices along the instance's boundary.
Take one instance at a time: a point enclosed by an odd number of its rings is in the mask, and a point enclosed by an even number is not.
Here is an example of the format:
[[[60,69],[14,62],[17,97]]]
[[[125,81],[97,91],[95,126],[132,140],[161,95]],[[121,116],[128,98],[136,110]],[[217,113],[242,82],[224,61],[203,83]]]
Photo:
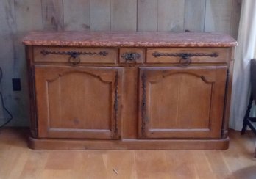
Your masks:
[[[29,147],[227,149],[229,35],[32,32],[23,43]]]

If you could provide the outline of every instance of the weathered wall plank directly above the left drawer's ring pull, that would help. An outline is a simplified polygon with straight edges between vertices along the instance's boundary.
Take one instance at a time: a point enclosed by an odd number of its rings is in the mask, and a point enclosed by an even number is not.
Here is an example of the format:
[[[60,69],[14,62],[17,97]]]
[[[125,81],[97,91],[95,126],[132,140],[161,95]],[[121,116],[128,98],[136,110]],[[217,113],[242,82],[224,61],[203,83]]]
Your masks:
[[[64,29],[90,29],[90,0],[63,0]]]

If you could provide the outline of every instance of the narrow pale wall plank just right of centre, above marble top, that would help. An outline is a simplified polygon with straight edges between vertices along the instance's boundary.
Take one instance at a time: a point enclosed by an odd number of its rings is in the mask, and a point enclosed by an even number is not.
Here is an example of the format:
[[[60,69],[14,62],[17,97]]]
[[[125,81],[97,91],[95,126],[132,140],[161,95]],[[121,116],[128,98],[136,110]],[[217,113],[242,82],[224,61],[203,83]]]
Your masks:
[[[138,31],[157,31],[157,1],[138,0]]]

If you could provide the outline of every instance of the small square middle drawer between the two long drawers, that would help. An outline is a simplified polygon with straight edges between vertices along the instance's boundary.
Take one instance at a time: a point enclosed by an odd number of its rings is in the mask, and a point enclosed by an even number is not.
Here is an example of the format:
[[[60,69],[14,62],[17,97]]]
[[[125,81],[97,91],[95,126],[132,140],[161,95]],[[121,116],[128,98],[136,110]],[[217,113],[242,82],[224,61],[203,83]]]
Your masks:
[[[144,59],[144,48],[120,48],[120,63],[143,63]]]

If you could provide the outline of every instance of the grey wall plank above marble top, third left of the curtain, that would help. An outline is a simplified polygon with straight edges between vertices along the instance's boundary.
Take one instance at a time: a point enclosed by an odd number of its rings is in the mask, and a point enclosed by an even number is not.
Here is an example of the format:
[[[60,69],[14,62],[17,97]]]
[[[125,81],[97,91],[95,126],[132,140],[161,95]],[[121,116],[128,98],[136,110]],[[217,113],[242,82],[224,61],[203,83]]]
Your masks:
[[[184,29],[191,32],[204,32],[206,0],[185,0]]]

